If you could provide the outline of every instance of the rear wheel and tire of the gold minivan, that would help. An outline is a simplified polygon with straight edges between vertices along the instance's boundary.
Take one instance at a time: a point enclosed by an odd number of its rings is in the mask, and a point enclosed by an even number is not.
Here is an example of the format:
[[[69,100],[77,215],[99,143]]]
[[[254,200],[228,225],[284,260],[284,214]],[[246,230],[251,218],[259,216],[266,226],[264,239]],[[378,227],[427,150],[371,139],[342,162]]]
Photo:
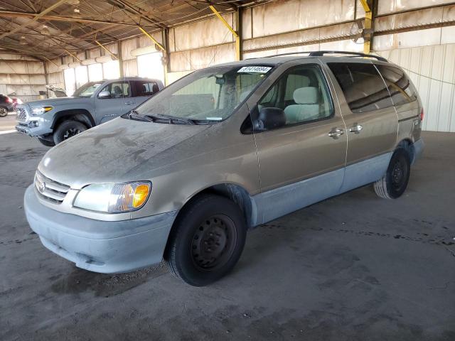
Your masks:
[[[400,197],[410,180],[410,154],[405,148],[398,148],[390,159],[385,175],[373,184],[375,193],[385,199]]]

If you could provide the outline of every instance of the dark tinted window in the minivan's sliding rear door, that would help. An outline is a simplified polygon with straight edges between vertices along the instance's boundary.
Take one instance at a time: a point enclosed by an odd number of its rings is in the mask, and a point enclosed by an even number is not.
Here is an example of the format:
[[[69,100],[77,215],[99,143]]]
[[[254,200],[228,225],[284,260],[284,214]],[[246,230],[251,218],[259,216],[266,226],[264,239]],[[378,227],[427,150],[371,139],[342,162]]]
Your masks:
[[[393,107],[387,87],[373,64],[328,63],[354,113]]]

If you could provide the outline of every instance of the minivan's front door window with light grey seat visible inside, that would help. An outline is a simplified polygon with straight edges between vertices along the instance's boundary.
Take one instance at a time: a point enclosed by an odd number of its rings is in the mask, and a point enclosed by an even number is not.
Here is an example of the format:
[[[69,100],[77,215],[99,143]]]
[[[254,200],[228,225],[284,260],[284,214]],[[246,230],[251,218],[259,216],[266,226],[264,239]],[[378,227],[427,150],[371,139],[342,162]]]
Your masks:
[[[293,67],[264,94],[258,109],[274,107],[284,111],[286,125],[326,119],[333,105],[326,81],[317,65]]]

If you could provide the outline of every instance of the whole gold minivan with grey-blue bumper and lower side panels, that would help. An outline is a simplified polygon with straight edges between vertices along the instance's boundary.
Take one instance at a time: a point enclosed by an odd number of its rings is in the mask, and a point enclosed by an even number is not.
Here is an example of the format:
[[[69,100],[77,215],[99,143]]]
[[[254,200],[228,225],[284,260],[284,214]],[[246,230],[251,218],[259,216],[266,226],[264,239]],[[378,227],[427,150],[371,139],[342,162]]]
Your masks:
[[[400,197],[422,118],[405,72],[375,55],[208,67],[51,148],[26,216],[45,247],[82,269],[165,259],[204,286],[235,266],[250,227],[369,183]]]

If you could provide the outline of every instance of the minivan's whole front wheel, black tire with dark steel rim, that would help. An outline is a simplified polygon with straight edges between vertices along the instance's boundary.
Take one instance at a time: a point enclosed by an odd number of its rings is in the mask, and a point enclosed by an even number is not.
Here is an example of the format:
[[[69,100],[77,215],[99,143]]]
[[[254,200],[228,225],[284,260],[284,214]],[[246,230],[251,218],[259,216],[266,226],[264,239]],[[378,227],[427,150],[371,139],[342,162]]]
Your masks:
[[[200,195],[179,213],[164,259],[171,274],[191,286],[206,286],[237,264],[246,239],[245,217],[226,197]]]

